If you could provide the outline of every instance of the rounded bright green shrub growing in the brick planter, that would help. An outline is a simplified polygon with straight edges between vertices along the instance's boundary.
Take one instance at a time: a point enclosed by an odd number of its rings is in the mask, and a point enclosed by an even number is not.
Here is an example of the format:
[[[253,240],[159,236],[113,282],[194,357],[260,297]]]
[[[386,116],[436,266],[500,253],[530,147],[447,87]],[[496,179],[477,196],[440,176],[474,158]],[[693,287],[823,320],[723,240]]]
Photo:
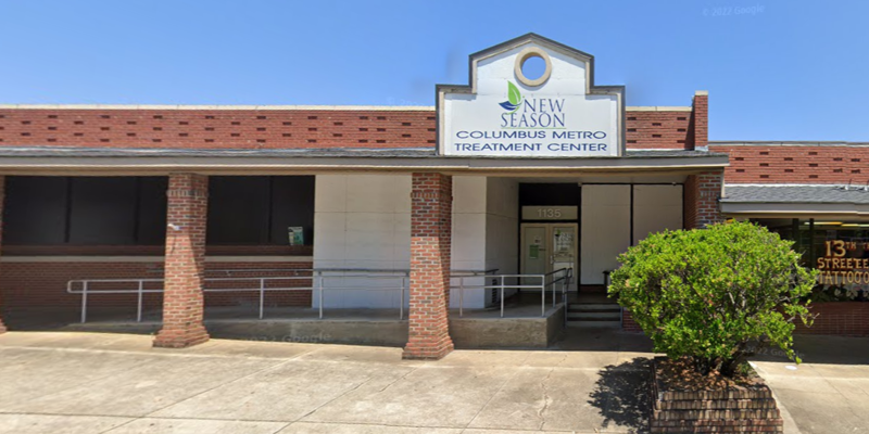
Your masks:
[[[811,324],[801,297],[817,271],[766,228],[718,224],[652,234],[619,256],[609,294],[630,310],[655,350],[732,376],[761,346],[797,362],[793,321]]]

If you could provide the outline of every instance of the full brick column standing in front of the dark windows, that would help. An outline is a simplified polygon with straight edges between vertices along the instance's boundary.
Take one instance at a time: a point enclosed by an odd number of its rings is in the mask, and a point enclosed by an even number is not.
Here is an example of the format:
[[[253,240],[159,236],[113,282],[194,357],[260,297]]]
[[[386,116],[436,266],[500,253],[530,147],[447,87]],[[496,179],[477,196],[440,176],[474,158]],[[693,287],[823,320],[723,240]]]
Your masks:
[[[154,339],[154,346],[184,348],[209,340],[202,324],[209,178],[172,174],[166,196],[169,227],[166,228],[163,329]]]

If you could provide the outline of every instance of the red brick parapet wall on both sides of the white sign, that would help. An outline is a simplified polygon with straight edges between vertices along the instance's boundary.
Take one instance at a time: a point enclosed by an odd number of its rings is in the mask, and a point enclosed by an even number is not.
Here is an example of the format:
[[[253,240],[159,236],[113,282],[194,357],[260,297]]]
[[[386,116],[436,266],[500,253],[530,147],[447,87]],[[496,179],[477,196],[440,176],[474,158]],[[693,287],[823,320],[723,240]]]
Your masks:
[[[629,111],[626,124],[628,149],[694,149],[691,112]],[[433,110],[0,108],[0,145],[18,146],[434,148],[434,128]]]

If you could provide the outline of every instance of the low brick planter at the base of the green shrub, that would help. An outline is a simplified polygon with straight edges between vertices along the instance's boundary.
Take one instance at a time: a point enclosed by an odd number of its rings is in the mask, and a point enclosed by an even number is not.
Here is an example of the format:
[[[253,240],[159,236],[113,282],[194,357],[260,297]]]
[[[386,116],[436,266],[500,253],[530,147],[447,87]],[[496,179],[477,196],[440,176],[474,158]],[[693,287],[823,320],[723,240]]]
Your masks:
[[[783,433],[776,399],[766,384],[723,390],[673,387],[652,367],[652,433]]]

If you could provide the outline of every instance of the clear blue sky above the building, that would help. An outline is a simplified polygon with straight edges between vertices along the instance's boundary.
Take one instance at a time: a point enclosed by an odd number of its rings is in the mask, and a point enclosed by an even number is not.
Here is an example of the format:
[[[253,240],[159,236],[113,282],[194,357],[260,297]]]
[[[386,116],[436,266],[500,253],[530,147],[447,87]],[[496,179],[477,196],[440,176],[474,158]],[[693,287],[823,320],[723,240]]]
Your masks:
[[[861,0],[0,0],[0,103],[433,105],[528,31],[629,105],[708,90],[713,140],[869,141]]]

